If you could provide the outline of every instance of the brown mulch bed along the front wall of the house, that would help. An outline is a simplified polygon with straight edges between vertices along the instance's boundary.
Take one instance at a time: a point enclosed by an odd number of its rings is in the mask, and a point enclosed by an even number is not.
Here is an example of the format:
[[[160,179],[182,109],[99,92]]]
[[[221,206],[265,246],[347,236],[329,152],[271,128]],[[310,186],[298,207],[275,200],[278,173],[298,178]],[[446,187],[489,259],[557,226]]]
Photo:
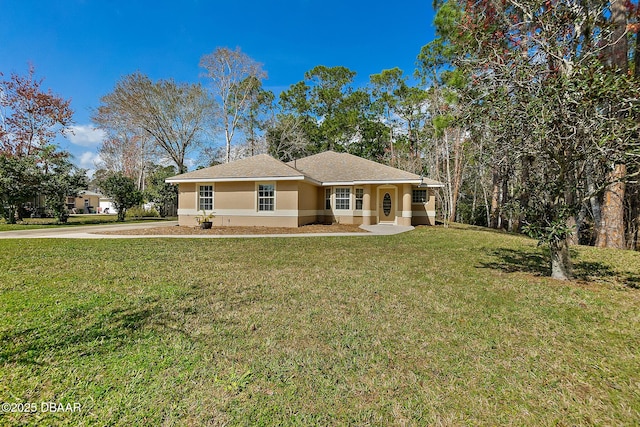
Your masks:
[[[288,227],[213,227],[202,230],[200,227],[153,227],[122,231],[103,231],[95,234],[109,235],[142,235],[142,236],[175,236],[175,235],[252,235],[252,234],[304,234],[304,233],[367,233],[357,225],[333,224],[304,225],[298,228]]]

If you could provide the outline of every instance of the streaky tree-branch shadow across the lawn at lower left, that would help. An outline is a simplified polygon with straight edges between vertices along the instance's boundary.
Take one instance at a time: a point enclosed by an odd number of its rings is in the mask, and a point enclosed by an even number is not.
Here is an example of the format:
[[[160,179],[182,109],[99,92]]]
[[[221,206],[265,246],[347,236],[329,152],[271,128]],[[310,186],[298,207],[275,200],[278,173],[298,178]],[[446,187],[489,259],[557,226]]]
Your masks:
[[[201,287],[193,285],[171,298],[137,298],[116,307],[70,306],[51,317],[45,313],[21,329],[0,331],[0,365],[46,365],[59,358],[108,354],[154,335],[200,341],[185,324],[198,314],[201,295]]]

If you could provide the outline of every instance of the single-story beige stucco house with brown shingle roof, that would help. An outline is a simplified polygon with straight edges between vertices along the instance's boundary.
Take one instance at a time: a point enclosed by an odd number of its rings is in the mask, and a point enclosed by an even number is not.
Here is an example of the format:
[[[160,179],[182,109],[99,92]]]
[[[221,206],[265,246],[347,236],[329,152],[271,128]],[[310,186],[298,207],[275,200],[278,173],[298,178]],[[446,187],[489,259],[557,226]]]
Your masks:
[[[299,227],[311,223],[433,225],[442,184],[351,154],[326,151],[283,163],[260,154],[177,175],[178,221]]]

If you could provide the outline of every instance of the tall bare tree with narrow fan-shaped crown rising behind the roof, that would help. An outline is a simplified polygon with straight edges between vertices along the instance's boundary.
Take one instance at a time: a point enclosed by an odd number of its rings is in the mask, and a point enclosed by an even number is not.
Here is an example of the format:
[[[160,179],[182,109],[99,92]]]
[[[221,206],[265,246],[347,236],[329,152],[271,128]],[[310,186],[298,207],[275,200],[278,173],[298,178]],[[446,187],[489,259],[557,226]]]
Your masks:
[[[231,50],[218,47],[200,59],[200,67],[211,79],[214,99],[219,103],[218,112],[224,129],[226,162],[231,159],[231,142],[236,129],[250,109],[260,81],[267,78],[262,64],[242,52],[239,47]],[[258,86],[255,86],[258,85]]]

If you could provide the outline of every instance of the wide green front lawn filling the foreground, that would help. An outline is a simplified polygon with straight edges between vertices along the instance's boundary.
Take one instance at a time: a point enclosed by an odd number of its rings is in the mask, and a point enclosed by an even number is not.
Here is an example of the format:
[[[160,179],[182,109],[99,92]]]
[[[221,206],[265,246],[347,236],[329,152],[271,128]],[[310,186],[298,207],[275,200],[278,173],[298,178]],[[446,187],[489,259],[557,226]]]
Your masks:
[[[637,425],[640,253],[471,229],[4,240],[1,425]]]

